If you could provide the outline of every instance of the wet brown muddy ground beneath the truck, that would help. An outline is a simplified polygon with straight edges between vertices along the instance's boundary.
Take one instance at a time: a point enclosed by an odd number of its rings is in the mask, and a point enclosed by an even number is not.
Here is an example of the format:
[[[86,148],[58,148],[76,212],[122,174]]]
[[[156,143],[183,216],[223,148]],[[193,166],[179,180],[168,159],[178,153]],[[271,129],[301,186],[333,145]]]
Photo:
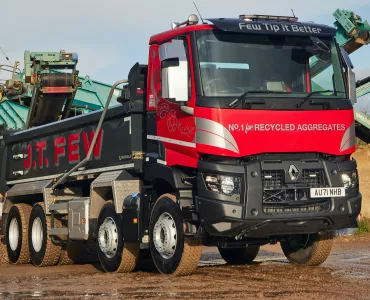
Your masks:
[[[158,274],[150,262],[131,274],[102,273],[98,264],[37,268],[0,266],[0,299],[369,299],[370,236],[336,239],[320,267],[291,265],[279,244],[252,265],[226,265],[203,249],[194,275]]]

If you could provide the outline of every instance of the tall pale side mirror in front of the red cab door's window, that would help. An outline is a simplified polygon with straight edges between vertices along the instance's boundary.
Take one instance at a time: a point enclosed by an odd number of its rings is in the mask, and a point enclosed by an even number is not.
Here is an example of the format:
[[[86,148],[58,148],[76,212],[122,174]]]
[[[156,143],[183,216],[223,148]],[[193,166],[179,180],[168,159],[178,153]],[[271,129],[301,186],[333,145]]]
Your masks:
[[[183,102],[191,98],[191,76],[188,43],[185,38],[173,39],[160,46],[161,96]]]

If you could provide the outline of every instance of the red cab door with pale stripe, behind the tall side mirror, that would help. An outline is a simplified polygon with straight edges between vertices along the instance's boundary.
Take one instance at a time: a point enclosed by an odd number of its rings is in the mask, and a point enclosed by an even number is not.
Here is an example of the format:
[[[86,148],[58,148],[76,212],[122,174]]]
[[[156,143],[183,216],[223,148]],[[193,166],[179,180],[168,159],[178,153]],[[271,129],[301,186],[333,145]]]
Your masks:
[[[157,162],[196,167],[195,87],[190,37],[179,36],[152,45],[148,111],[155,111],[156,130],[148,128],[148,145],[158,149]],[[155,101],[155,103],[154,103]],[[151,108],[155,106],[155,109]],[[154,112],[153,111],[153,112]],[[153,142],[158,147],[153,147]]]

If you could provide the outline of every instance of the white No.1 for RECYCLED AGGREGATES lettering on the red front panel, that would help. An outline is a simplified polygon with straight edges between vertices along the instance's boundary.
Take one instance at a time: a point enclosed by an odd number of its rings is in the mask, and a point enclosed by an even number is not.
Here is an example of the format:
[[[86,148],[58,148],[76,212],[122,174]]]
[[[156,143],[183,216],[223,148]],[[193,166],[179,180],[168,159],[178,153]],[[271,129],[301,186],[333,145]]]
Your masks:
[[[345,131],[345,124],[229,124],[230,132]]]

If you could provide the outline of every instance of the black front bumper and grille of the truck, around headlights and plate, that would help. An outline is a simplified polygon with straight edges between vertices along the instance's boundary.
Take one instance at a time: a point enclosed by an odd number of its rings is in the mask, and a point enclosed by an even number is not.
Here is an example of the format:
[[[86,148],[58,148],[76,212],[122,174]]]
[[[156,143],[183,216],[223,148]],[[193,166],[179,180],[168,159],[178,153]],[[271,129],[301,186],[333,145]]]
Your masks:
[[[289,175],[291,165],[299,170],[295,180]],[[357,174],[355,161],[200,162],[198,170],[196,209],[211,236],[266,238],[357,227],[362,199],[358,185],[344,197],[310,197],[311,187],[343,187],[341,174]],[[240,195],[210,191],[205,183],[209,174],[239,177]]]

